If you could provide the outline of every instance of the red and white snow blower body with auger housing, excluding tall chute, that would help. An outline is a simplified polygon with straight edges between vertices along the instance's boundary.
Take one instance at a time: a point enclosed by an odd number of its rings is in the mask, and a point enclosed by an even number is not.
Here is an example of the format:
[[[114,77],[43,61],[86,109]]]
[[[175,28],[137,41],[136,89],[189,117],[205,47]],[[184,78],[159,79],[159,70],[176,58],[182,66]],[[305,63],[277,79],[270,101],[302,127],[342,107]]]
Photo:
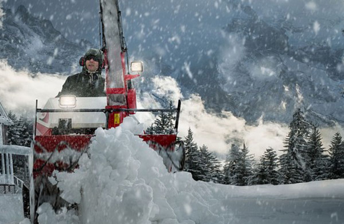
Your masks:
[[[67,96],[71,97],[71,96]],[[135,109],[135,108],[96,108],[106,107],[106,97],[74,97],[76,104],[72,108],[55,109],[64,100],[51,98],[43,109],[36,106],[36,122],[33,162],[33,189],[31,189],[31,217],[44,202],[50,203],[55,210],[68,203],[60,198],[60,192],[49,178],[53,172],[73,172],[78,166],[78,160],[87,153],[88,145],[94,131],[98,127],[117,127],[126,116],[136,112],[175,112],[176,123],[174,134],[142,134],[138,135],[143,141],[158,152],[163,158],[169,172],[181,171],[184,168],[185,148],[183,141],[177,140],[178,117],[181,102],[173,109]],[[118,122],[119,121],[119,122]],[[111,124],[110,124],[111,123]],[[74,205],[75,206],[75,205]]]

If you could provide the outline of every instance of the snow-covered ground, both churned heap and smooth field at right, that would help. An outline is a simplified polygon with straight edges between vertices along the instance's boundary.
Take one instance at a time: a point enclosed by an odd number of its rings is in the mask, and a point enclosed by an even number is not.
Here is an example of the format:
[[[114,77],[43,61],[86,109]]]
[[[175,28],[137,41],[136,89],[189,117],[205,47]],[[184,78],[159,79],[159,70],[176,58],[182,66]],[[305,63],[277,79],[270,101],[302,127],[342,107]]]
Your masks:
[[[162,158],[134,135],[141,131],[132,118],[116,129],[97,129],[80,168],[51,179],[65,200],[79,204],[78,213],[55,214],[43,204],[39,222],[344,223],[343,179],[278,186],[196,182],[187,172],[168,173]]]

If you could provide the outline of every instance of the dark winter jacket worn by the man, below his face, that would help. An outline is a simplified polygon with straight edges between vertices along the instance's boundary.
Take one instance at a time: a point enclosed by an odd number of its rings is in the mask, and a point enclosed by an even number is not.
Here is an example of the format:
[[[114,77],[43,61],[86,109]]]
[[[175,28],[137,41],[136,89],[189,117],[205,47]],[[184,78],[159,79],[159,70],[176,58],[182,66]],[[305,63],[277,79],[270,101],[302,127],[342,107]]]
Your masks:
[[[105,79],[100,73],[88,73],[85,69],[82,72],[71,75],[62,86],[61,95],[75,95],[76,97],[97,97],[106,96]]]

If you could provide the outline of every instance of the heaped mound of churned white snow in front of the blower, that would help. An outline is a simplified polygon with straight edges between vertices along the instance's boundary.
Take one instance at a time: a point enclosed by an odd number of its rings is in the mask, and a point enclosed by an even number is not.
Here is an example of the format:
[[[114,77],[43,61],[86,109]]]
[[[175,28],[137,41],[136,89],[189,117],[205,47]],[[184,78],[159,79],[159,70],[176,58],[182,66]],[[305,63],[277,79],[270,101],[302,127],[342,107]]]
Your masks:
[[[40,223],[224,223],[207,183],[190,173],[168,173],[162,158],[134,134],[142,126],[128,117],[116,129],[96,130],[74,173],[56,173],[62,197],[79,211],[37,211]],[[54,182],[54,180],[52,180]],[[212,188],[214,185],[212,186]]]

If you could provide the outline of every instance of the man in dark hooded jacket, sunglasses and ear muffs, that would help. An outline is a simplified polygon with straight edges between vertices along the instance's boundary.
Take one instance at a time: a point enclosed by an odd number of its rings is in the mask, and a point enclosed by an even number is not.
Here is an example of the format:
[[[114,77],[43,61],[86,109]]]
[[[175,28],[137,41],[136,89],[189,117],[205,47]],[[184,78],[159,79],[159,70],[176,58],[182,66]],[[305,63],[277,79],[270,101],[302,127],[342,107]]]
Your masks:
[[[101,76],[103,62],[104,56],[101,50],[89,49],[79,61],[80,66],[83,66],[82,72],[69,76],[56,97],[62,95],[74,95],[76,97],[106,96],[105,78]]]

